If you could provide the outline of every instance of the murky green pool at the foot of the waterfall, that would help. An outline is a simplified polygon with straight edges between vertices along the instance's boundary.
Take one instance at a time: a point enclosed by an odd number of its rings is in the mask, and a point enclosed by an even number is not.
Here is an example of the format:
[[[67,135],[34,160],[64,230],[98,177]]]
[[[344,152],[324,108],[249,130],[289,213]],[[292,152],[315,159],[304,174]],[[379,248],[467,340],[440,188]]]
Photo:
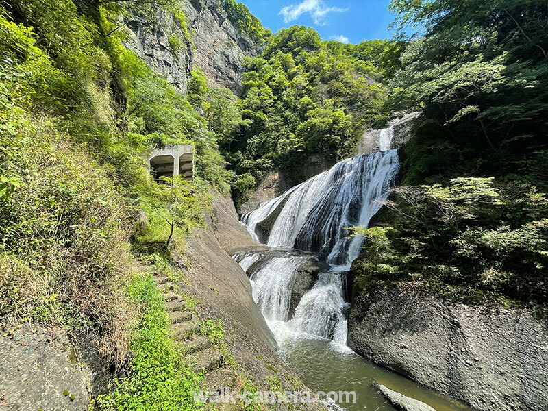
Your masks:
[[[333,349],[325,340],[286,340],[280,355],[313,391],[355,391],[356,403],[339,403],[349,410],[395,411],[371,383],[384,384],[408,397],[432,406],[436,411],[472,411],[444,395],[419,386],[401,375],[382,369],[352,352]]]

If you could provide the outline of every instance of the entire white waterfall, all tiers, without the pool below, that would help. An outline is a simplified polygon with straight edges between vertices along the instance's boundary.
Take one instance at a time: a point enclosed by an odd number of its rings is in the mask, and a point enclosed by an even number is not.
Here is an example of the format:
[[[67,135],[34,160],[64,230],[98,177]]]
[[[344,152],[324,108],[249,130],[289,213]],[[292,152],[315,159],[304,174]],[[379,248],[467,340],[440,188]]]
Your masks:
[[[251,235],[269,247],[316,252],[331,266],[318,275],[289,318],[292,287],[303,260],[295,251],[266,262],[258,253],[236,257],[248,271],[253,299],[279,343],[304,336],[346,345],[349,304],[343,284],[363,242],[361,236],[349,238],[347,228],[368,225],[395,184],[399,158],[397,150],[389,149],[392,135],[389,129],[382,133],[386,151],[343,160],[242,216]]]

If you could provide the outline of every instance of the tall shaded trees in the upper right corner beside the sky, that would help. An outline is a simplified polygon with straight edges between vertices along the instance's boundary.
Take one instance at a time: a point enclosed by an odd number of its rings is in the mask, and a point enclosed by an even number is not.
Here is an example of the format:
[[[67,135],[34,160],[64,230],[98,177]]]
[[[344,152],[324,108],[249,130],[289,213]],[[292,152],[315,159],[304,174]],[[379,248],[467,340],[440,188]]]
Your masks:
[[[423,111],[406,182],[519,170],[546,190],[538,173],[546,154],[534,154],[546,150],[546,3],[394,0],[391,8],[401,29],[423,34],[401,55],[388,98],[392,109]]]

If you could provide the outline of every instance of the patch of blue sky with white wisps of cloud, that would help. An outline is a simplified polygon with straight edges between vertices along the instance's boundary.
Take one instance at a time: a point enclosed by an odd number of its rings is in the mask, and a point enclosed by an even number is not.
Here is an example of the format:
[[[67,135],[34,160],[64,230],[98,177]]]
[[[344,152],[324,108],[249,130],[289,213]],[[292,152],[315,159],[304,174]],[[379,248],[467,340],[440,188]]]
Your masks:
[[[394,15],[390,0],[237,0],[273,32],[282,27],[314,27],[324,40],[356,44],[363,40],[391,38],[388,25]]]

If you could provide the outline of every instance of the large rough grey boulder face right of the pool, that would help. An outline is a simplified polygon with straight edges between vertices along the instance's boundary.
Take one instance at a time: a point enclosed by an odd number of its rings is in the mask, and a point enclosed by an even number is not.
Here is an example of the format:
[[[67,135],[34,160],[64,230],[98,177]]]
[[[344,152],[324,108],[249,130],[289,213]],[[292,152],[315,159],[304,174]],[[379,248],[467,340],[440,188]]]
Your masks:
[[[389,284],[353,301],[349,345],[477,410],[548,409],[548,324],[525,311],[451,304],[418,284]]]

